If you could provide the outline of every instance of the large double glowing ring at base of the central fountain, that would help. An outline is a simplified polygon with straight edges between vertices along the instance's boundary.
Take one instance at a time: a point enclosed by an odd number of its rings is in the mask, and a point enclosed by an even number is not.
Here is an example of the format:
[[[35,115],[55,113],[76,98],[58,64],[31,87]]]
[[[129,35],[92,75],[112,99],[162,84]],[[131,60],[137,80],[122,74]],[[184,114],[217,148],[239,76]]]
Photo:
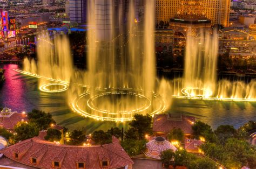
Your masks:
[[[91,96],[91,93],[93,95]],[[148,95],[148,94],[146,94]],[[131,121],[134,114],[159,114],[165,110],[165,101],[163,98],[155,93],[151,93],[152,99],[144,95],[142,90],[128,89],[128,88],[110,88],[110,89],[95,89],[87,91],[79,95],[71,104],[71,108],[82,114],[85,117],[95,118],[102,121]],[[149,96],[150,96],[149,95]],[[100,108],[97,100],[101,99],[103,105],[106,105],[107,99],[114,97],[131,97],[132,100],[139,102],[139,106],[126,103],[125,110],[112,110],[109,107]],[[122,100],[122,99],[121,99]]]

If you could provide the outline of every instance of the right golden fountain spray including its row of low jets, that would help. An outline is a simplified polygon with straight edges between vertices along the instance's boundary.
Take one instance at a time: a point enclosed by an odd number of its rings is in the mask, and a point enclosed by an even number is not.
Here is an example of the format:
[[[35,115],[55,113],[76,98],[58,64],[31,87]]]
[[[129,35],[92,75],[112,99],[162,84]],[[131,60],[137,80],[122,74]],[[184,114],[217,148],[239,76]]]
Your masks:
[[[173,80],[174,97],[206,100],[255,101],[256,82],[217,81],[218,34],[200,32],[186,38],[183,78]],[[181,92],[180,92],[181,91]]]

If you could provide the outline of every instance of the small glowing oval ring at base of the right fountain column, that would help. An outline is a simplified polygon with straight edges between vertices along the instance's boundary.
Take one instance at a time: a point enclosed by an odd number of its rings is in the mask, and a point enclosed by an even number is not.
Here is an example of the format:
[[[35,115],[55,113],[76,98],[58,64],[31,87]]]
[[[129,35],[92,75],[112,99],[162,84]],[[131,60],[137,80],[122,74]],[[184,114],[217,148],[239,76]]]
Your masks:
[[[212,90],[201,87],[186,87],[181,89],[181,93],[187,97],[207,98],[212,95]]]

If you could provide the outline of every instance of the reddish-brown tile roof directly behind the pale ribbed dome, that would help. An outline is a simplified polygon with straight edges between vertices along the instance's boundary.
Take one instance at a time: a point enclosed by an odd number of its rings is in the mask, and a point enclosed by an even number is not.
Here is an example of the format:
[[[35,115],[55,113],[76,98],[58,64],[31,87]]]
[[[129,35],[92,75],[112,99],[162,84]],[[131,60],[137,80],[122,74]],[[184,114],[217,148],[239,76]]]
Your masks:
[[[174,128],[180,128],[185,134],[192,134],[192,124],[195,118],[192,116],[180,116],[181,118],[170,118],[170,115],[155,115],[153,119],[154,132],[169,132]]]

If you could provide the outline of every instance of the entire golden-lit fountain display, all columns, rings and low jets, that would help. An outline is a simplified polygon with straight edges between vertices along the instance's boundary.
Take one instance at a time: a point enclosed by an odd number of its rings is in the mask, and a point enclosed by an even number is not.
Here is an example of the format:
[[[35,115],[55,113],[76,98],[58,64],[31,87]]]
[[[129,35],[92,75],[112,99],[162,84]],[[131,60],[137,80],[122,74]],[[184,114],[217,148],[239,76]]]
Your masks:
[[[129,2],[128,16],[124,16],[122,3],[87,1],[86,71],[72,67],[65,36],[52,40],[47,33],[37,37],[37,64],[25,59],[24,70],[16,71],[38,78],[41,91],[66,91],[73,111],[99,121],[130,121],[134,114],[153,116],[168,109],[173,97],[256,101],[255,81],[217,81],[217,32],[186,37],[183,77],[156,78],[154,1],[145,1],[143,22],[136,16],[135,1]]]

